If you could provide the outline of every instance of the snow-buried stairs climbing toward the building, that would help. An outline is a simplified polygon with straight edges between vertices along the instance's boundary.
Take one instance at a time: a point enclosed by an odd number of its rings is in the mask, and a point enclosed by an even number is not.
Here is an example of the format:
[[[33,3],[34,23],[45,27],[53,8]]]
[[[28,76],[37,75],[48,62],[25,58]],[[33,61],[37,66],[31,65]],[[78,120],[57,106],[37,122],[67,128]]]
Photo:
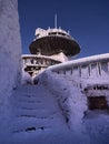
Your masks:
[[[51,132],[67,128],[53,95],[42,85],[22,85],[10,99],[11,133]]]

